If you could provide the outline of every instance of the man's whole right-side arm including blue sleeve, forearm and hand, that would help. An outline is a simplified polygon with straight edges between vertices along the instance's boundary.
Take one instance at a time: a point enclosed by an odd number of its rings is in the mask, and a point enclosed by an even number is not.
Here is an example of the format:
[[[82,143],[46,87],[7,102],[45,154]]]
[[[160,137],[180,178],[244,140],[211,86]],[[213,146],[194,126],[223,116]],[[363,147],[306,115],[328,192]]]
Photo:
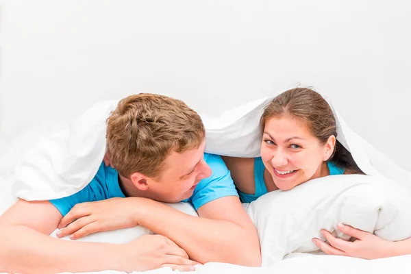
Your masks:
[[[73,233],[74,238],[80,238],[138,223],[169,237],[197,262],[260,266],[257,230],[242,208],[227,166],[218,155],[209,155],[207,163],[212,176],[201,180],[190,198],[201,218],[151,199],[109,199],[83,203],[71,210],[60,224],[69,224],[60,236]]]

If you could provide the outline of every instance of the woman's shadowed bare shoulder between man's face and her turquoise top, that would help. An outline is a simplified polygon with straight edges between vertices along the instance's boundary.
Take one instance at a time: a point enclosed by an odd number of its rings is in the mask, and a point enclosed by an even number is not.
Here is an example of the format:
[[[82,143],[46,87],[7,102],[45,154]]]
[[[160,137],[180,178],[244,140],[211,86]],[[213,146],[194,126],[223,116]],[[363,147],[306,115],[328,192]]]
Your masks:
[[[236,187],[247,194],[256,192],[254,182],[254,158],[221,156],[229,169]]]

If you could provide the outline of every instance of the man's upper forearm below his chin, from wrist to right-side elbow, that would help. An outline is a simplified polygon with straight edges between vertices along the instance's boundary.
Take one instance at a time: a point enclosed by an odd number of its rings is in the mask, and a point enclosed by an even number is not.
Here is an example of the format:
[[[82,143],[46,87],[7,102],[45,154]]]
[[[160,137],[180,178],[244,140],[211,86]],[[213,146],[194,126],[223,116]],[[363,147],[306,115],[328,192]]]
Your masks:
[[[227,262],[260,266],[256,230],[229,221],[190,216],[156,201],[136,205],[137,221],[155,234],[162,234],[182,247],[197,262]]]

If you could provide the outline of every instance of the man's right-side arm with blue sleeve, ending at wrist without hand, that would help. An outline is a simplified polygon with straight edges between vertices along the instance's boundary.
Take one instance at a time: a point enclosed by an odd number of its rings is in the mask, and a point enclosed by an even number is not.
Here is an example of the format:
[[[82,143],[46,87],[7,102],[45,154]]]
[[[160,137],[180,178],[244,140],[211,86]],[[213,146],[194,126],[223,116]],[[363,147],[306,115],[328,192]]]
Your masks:
[[[201,218],[142,199],[136,202],[136,221],[171,237],[192,260],[260,266],[257,229],[240,203],[229,170],[219,155],[207,156],[212,175],[199,182],[190,198]]]

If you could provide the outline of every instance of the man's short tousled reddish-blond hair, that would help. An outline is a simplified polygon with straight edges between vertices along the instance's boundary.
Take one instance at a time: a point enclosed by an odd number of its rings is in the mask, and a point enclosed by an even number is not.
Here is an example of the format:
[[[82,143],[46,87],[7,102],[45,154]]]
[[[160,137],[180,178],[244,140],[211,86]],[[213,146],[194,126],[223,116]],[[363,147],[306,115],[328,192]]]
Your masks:
[[[197,112],[183,101],[140,93],[122,99],[107,120],[110,162],[124,177],[158,177],[171,152],[198,148],[206,130]]]

